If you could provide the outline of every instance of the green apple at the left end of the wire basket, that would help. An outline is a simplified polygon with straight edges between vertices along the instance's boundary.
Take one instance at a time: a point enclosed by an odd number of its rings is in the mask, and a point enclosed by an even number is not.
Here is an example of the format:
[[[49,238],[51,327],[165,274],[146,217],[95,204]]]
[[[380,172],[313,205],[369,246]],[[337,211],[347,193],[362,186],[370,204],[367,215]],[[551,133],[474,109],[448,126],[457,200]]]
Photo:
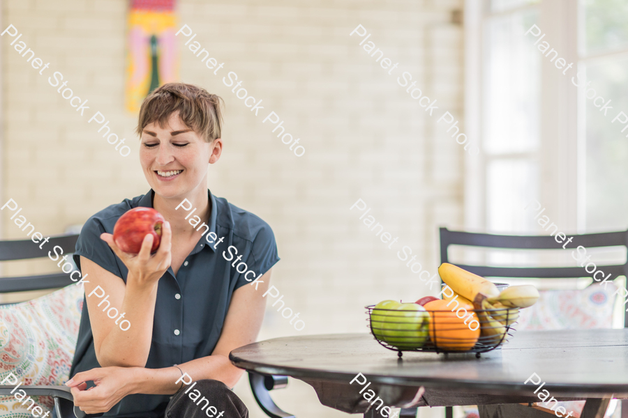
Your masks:
[[[377,327],[375,336],[402,350],[421,348],[429,336],[430,317],[425,308],[415,303],[390,302],[394,301],[380,302],[382,306],[377,304],[373,309],[371,327]]]

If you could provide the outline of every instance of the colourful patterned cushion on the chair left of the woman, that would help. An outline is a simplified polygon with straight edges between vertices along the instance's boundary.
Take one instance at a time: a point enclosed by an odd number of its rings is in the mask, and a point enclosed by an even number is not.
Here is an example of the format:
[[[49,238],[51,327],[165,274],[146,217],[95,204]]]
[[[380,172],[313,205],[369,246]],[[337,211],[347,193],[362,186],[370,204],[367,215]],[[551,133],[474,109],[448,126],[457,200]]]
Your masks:
[[[81,310],[81,286],[71,284],[35,300],[0,306],[0,381],[9,373],[22,385],[63,385],[74,357]],[[50,396],[33,396],[46,412]],[[0,417],[32,418],[13,397],[0,396]]]

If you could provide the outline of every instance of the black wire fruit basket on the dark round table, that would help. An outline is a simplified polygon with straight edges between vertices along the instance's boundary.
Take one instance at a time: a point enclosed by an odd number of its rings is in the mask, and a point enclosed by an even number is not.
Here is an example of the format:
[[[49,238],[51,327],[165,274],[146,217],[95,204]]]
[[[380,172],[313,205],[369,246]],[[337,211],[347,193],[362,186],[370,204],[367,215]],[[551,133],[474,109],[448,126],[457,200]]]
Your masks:
[[[399,311],[375,309],[375,305],[367,306],[366,312],[371,334],[399,357],[404,351],[480,357],[508,341],[519,316],[518,308],[473,309],[462,318],[456,311]]]

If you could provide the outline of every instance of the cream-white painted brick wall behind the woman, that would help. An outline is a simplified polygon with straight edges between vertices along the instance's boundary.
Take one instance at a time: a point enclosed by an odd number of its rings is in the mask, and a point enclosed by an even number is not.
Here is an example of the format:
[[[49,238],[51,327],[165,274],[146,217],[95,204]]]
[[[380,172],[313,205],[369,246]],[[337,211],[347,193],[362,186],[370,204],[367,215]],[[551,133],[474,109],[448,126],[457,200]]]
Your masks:
[[[124,110],[127,2],[3,4],[3,28],[14,24],[24,33],[20,40],[51,64],[45,77],[38,75],[7,36],[0,38],[1,195],[3,202],[12,197],[20,203],[38,230],[57,234],[148,189],[137,159],[136,116]],[[181,80],[204,86],[227,104],[225,152],[210,168],[209,187],[273,227],[282,258],[273,282],[287,304],[301,311],[304,333],[366,332],[366,304],[426,295],[396,251],[412,247],[417,261],[435,271],[438,226],[462,224],[463,147],[444,133],[444,124],[435,123],[445,110],[463,118],[463,38],[461,28],[449,24],[451,10],[459,7],[458,0],[179,1],[179,22],[193,28],[195,40],[218,63],[225,62],[214,75],[183,38],[177,40]],[[384,56],[399,63],[393,75],[367,56],[357,36],[349,36],[357,24],[372,33],[369,40]],[[48,84],[54,71],[89,100],[84,117]],[[263,99],[257,118],[223,85],[228,71]],[[403,71],[438,99],[432,118],[398,86]],[[96,110],[130,142],[128,157],[87,123]],[[304,157],[295,157],[271,133],[273,126],[262,124],[271,110],[287,132],[301,138]],[[359,213],[350,212],[358,198],[401,245],[387,249],[361,224]],[[0,217],[3,238],[22,238],[9,217]],[[41,268],[10,267],[5,273]],[[260,337],[290,334],[292,327],[268,309]],[[252,417],[261,417],[246,381],[237,389]],[[320,406],[307,385],[292,383],[275,396],[297,416],[342,415]]]

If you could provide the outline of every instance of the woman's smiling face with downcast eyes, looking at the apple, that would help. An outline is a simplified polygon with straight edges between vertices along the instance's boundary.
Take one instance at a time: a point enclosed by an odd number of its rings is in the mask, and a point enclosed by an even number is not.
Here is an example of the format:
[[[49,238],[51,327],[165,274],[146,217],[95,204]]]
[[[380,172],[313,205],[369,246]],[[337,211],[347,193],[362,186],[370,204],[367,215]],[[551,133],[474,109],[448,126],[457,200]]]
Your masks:
[[[151,188],[164,199],[181,200],[207,194],[207,164],[222,151],[220,138],[207,142],[186,126],[179,112],[164,127],[157,121],[142,130],[140,162]]]

